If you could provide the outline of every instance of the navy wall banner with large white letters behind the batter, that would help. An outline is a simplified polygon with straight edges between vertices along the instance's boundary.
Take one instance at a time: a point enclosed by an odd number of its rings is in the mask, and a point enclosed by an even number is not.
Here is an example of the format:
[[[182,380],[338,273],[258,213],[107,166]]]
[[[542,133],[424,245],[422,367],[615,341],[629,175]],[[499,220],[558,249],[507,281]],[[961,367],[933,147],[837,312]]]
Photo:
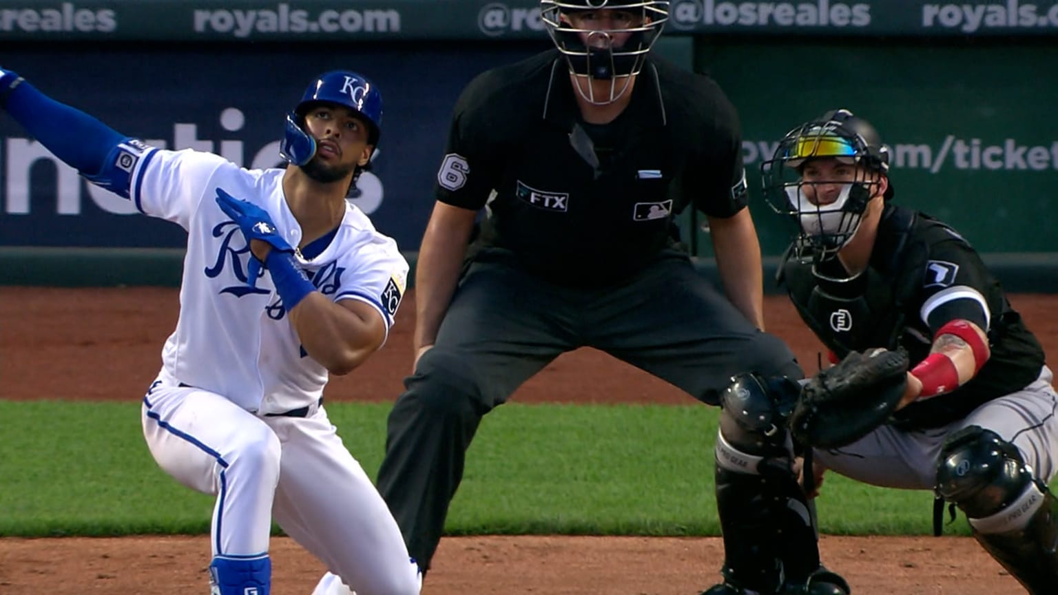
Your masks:
[[[361,72],[383,96],[372,170],[354,204],[402,249],[417,250],[433,208],[451,111],[477,73],[550,47],[211,53],[182,49],[5,53],[3,66],[53,98],[162,148],[195,148],[252,168],[280,163],[286,113],[315,75]],[[421,49],[420,49],[421,50]],[[176,248],[174,223],[139,214],[86,182],[0,112],[0,246]]]

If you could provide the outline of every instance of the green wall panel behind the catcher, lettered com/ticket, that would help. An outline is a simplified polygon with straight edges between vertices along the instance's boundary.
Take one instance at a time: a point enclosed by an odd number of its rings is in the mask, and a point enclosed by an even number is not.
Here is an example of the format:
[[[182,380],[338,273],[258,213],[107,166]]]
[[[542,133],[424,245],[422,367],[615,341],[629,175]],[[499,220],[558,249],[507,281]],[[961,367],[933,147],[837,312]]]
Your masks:
[[[781,254],[795,228],[763,203],[761,162],[787,131],[838,108],[889,146],[896,202],[982,252],[1058,252],[1058,46],[726,42],[699,48],[697,64],[741,113],[765,253]]]

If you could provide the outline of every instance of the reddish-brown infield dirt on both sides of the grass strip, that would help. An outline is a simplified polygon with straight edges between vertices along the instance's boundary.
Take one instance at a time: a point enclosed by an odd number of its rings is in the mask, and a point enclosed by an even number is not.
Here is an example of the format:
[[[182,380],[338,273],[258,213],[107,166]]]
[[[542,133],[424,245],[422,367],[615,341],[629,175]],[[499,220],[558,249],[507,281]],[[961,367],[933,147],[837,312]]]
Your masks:
[[[1011,298],[1048,354],[1058,353],[1058,295]],[[0,398],[140,399],[172,330],[176,289],[0,288]],[[411,366],[412,296],[389,343],[327,390],[333,401],[391,401]],[[783,298],[767,298],[768,328],[807,369],[820,345]],[[56,369],[56,362],[62,368]],[[690,397],[591,349],[559,358],[518,402],[655,402]],[[2,489],[2,488],[0,488]],[[824,488],[825,498],[825,488]],[[824,536],[824,560],[858,594],[995,595],[1017,582],[967,538]],[[322,565],[288,539],[273,543],[276,595],[307,594]],[[0,595],[205,593],[205,538],[0,539]],[[715,581],[718,539],[445,538],[425,595],[693,595]]]

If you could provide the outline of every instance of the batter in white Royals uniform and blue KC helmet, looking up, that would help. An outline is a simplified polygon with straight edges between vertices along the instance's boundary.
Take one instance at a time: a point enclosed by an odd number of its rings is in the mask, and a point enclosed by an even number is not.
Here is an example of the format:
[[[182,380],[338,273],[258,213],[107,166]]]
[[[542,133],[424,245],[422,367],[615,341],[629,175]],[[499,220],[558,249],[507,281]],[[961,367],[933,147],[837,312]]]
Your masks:
[[[414,595],[385,502],[327,418],[328,374],[382,346],[407,263],[345,196],[379,140],[382,97],[316,78],[289,115],[286,169],[160,150],[0,70],[0,106],[89,181],[187,231],[180,318],[143,399],[159,466],[217,497],[214,595],[268,595],[273,519],[331,571],[315,595]]]

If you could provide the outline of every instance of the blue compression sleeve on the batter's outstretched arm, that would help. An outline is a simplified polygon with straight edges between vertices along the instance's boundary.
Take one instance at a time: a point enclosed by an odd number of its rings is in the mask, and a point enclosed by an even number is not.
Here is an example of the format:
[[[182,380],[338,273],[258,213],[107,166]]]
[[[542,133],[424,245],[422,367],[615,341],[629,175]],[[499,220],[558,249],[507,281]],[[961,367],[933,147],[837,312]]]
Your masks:
[[[4,108],[55,157],[89,177],[99,174],[114,147],[128,139],[91,115],[56,102],[25,80],[11,90]]]

